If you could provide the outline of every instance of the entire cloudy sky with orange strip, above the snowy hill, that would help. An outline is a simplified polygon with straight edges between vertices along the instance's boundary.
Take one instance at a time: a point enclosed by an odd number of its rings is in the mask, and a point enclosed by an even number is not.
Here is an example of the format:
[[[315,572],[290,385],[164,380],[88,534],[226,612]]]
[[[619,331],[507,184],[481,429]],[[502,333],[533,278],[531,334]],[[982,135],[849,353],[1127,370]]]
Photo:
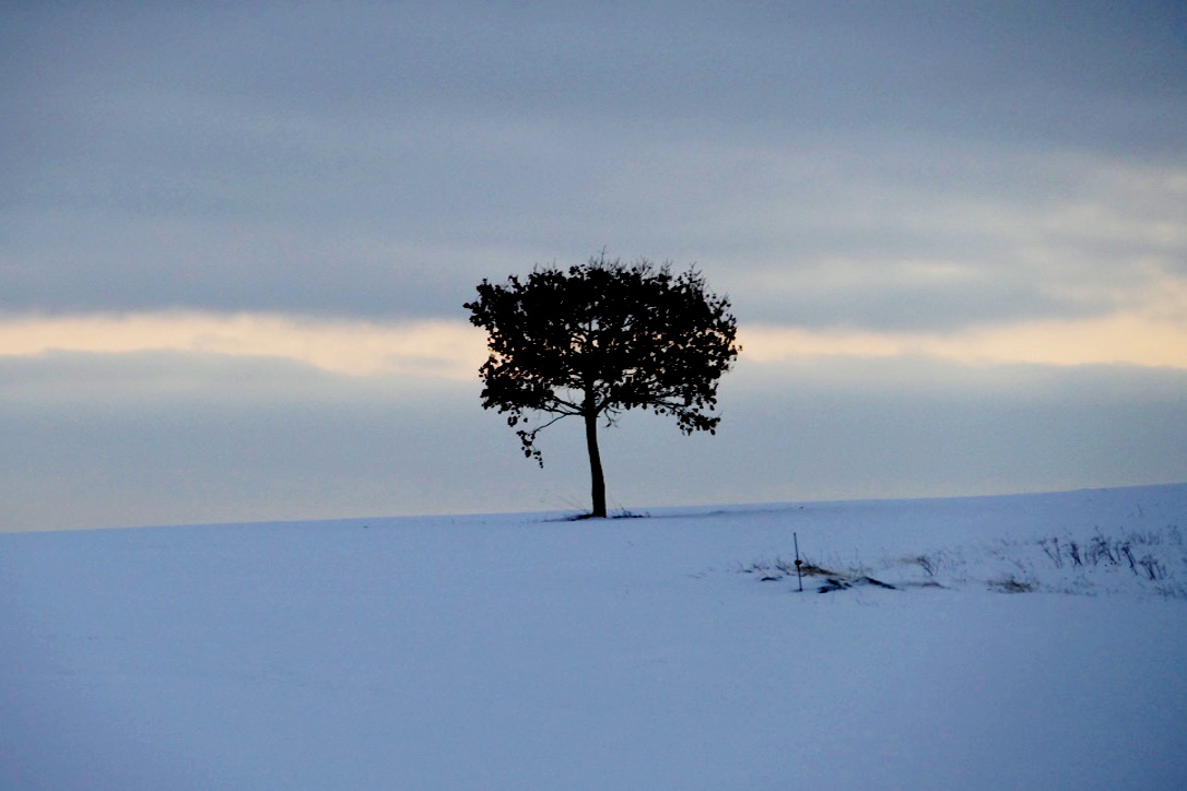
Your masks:
[[[1175,2],[9,2],[0,530],[583,509],[483,278],[696,266],[611,508],[1187,480]]]

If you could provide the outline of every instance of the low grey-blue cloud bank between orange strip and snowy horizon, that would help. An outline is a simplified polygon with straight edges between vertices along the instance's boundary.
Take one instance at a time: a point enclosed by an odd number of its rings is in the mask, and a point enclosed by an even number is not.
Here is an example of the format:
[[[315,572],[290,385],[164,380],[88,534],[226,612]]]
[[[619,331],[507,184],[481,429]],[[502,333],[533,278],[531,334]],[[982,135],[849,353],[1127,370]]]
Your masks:
[[[717,436],[630,413],[611,503],[940,496],[1187,477],[1187,372],[743,361]],[[472,387],[193,355],[0,361],[0,530],[578,510],[583,435],[519,454]]]

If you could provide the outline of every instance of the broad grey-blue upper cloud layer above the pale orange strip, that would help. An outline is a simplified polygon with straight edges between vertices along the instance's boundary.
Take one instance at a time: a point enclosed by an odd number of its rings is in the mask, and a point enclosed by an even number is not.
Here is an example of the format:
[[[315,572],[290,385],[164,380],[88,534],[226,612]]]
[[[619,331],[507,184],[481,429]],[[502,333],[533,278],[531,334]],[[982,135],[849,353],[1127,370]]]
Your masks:
[[[1124,219],[1093,168],[1181,166],[1175,4],[684,5],[17,9],[0,310],[458,317],[481,276],[607,244],[699,262],[750,320],[951,328],[1183,266],[1015,222]],[[899,279],[920,259],[969,276]],[[868,276],[815,280],[833,260]]]

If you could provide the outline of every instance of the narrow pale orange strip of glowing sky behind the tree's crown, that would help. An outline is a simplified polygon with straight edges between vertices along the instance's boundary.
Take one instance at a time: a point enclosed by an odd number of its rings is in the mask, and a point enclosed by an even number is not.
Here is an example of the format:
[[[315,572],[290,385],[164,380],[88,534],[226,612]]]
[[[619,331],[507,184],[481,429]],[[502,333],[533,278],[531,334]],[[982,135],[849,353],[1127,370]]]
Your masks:
[[[1030,321],[956,333],[743,326],[753,363],[820,357],[933,357],[964,364],[1129,364],[1187,369],[1187,324],[1174,312]],[[171,351],[298,361],[348,376],[405,374],[469,381],[485,359],[464,321],[379,324],[278,314],[138,313],[0,317],[0,357],[51,351]]]

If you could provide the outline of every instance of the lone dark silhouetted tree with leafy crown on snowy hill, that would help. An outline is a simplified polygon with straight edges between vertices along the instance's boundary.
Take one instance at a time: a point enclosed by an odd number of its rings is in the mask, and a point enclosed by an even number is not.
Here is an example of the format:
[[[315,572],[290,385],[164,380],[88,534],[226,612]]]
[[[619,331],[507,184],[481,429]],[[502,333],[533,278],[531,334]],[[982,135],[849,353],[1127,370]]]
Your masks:
[[[706,413],[741,347],[729,300],[706,292],[696,269],[673,275],[668,264],[624,264],[603,251],[567,272],[537,267],[526,281],[483,280],[464,307],[489,333],[482,407],[507,413],[513,428],[529,414],[554,415],[515,432],[523,455],[542,467],[537,434],[571,415],[584,420],[592,516],[607,515],[599,419],[612,426],[640,407],[674,416],[685,434],[716,433],[721,417]]]

